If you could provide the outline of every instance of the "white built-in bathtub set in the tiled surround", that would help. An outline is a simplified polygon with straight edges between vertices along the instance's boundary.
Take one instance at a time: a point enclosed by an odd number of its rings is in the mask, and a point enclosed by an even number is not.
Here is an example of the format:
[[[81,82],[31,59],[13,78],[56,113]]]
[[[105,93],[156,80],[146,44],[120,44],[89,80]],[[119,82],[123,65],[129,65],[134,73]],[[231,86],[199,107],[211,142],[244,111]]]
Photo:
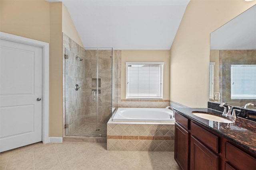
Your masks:
[[[119,107],[112,121],[157,121],[175,122],[174,113],[167,108],[127,108]]]

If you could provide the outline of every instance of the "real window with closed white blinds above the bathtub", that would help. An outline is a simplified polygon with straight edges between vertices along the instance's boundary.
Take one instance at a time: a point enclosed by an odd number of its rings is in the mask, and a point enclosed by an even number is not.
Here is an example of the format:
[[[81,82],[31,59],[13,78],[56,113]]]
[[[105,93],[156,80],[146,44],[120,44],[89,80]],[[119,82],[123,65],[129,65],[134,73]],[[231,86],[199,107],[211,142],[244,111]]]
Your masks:
[[[126,99],[162,99],[163,67],[163,62],[126,62]]]

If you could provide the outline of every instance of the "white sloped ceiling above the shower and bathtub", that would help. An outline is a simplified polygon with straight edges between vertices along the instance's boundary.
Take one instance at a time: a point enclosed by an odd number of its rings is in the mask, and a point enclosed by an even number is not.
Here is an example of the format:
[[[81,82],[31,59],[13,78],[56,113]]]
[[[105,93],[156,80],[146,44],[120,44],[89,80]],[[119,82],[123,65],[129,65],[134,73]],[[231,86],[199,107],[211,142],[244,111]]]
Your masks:
[[[50,1],[50,0],[49,0]],[[169,50],[189,0],[60,0],[84,47]]]

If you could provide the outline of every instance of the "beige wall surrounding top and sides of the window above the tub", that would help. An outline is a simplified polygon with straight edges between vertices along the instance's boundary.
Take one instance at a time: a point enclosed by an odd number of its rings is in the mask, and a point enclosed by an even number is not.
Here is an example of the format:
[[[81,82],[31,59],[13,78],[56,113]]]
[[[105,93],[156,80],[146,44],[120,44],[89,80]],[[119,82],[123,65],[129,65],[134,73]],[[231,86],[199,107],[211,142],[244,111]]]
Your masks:
[[[170,100],[169,50],[122,50],[121,53],[121,100],[126,98],[125,62],[164,62],[163,100]]]

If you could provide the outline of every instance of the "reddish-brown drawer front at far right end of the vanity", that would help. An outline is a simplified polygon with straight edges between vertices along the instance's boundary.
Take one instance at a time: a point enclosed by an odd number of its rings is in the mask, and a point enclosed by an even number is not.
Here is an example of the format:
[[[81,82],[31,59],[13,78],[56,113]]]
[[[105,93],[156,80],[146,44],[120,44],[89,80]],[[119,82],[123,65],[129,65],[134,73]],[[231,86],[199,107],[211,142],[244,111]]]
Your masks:
[[[256,159],[226,142],[226,159],[240,170],[255,169]]]

